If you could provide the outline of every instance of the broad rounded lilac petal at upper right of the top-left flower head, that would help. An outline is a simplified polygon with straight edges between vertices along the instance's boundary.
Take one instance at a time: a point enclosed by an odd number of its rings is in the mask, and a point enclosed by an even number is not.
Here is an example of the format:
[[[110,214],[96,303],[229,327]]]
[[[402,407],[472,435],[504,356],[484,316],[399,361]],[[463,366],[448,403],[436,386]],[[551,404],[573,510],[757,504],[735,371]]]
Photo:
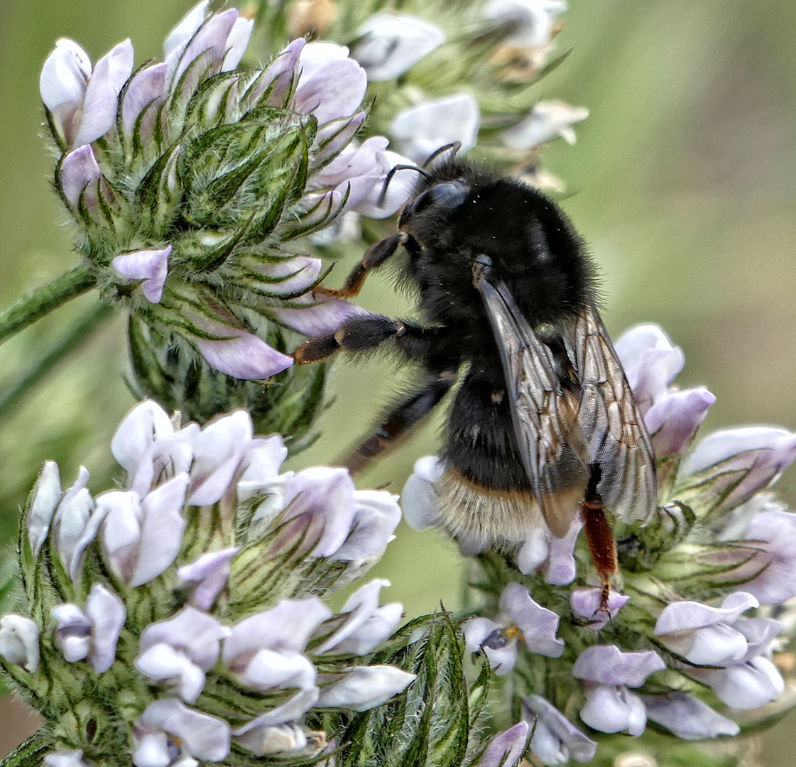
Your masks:
[[[292,108],[302,115],[314,115],[319,125],[353,115],[368,87],[365,70],[348,58],[332,59],[309,70],[305,53],[311,45],[307,45],[299,57],[302,74],[298,78]]]

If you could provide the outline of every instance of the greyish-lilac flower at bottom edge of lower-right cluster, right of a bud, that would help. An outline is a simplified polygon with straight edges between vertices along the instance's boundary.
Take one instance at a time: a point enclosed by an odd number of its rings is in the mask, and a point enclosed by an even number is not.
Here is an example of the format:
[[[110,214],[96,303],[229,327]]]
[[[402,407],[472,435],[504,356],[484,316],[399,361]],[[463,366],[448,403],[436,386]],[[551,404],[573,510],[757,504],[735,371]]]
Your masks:
[[[531,726],[530,749],[542,764],[555,767],[565,765],[570,759],[594,758],[597,744],[540,695],[529,695],[522,701],[522,718]]]

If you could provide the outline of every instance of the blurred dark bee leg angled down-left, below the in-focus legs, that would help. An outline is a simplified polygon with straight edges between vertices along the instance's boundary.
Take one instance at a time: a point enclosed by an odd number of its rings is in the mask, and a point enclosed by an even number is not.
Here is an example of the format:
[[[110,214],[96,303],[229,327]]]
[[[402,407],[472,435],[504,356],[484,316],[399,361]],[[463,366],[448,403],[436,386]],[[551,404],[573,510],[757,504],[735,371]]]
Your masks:
[[[373,435],[369,436],[340,464],[352,474],[364,468],[372,458],[389,450],[431,413],[456,381],[456,373],[446,370],[424,383],[421,389],[395,405]]]

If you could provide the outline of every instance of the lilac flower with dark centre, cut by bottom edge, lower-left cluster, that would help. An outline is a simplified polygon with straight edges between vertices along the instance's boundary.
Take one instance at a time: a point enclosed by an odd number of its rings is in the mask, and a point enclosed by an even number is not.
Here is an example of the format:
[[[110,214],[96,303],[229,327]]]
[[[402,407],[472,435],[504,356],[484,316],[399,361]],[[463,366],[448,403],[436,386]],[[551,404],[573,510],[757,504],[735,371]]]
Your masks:
[[[133,730],[135,767],[189,767],[221,761],[229,753],[227,722],[190,709],[173,698],[156,700]]]

